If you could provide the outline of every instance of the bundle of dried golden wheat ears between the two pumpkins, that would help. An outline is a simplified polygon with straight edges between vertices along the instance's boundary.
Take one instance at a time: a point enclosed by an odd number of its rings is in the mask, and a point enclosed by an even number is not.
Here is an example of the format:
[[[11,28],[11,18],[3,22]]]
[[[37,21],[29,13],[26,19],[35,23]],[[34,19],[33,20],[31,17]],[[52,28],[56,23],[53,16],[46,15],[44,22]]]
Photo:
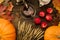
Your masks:
[[[43,37],[44,31],[41,28],[32,28],[33,23],[18,21],[17,40],[39,40]]]

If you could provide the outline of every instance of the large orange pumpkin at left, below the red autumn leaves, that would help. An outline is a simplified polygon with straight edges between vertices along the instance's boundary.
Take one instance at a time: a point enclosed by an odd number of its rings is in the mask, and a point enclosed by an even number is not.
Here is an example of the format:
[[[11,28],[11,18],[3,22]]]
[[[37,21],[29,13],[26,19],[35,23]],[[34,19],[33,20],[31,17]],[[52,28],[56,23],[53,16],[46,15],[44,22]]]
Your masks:
[[[16,40],[14,26],[3,18],[0,18],[0,40]]]

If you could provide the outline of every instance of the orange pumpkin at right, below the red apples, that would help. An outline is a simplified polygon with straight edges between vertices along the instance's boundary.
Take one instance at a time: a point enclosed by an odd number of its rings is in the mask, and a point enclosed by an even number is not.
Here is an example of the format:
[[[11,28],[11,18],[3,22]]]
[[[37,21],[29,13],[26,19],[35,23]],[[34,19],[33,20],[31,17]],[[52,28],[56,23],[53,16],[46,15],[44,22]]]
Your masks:
[[[60,40],[60,26],[48,27],[44,33],[44,40]]]

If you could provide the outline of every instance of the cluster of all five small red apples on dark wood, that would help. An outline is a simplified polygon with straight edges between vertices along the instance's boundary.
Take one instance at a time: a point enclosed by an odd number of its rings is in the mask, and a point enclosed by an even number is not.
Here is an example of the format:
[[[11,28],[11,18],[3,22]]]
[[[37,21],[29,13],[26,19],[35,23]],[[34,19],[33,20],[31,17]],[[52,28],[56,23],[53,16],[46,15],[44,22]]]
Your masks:
[[[40,17],[34,18],[34,23],[38,24],[38,25],[41,25],[42,28],[46,28],[48,23],[45,22],[45,21],[42,21],[41,18],[45,18],[45,20],[47,20],[49,22],[51,22],[53,20],[53,17],[51,15],[53,13],[53,9],[52,8],[47,8],[46,12],[47,12],[47,14],[44,11],[40,11],[39,14],[38,14],[38,16],[40,16]]]

